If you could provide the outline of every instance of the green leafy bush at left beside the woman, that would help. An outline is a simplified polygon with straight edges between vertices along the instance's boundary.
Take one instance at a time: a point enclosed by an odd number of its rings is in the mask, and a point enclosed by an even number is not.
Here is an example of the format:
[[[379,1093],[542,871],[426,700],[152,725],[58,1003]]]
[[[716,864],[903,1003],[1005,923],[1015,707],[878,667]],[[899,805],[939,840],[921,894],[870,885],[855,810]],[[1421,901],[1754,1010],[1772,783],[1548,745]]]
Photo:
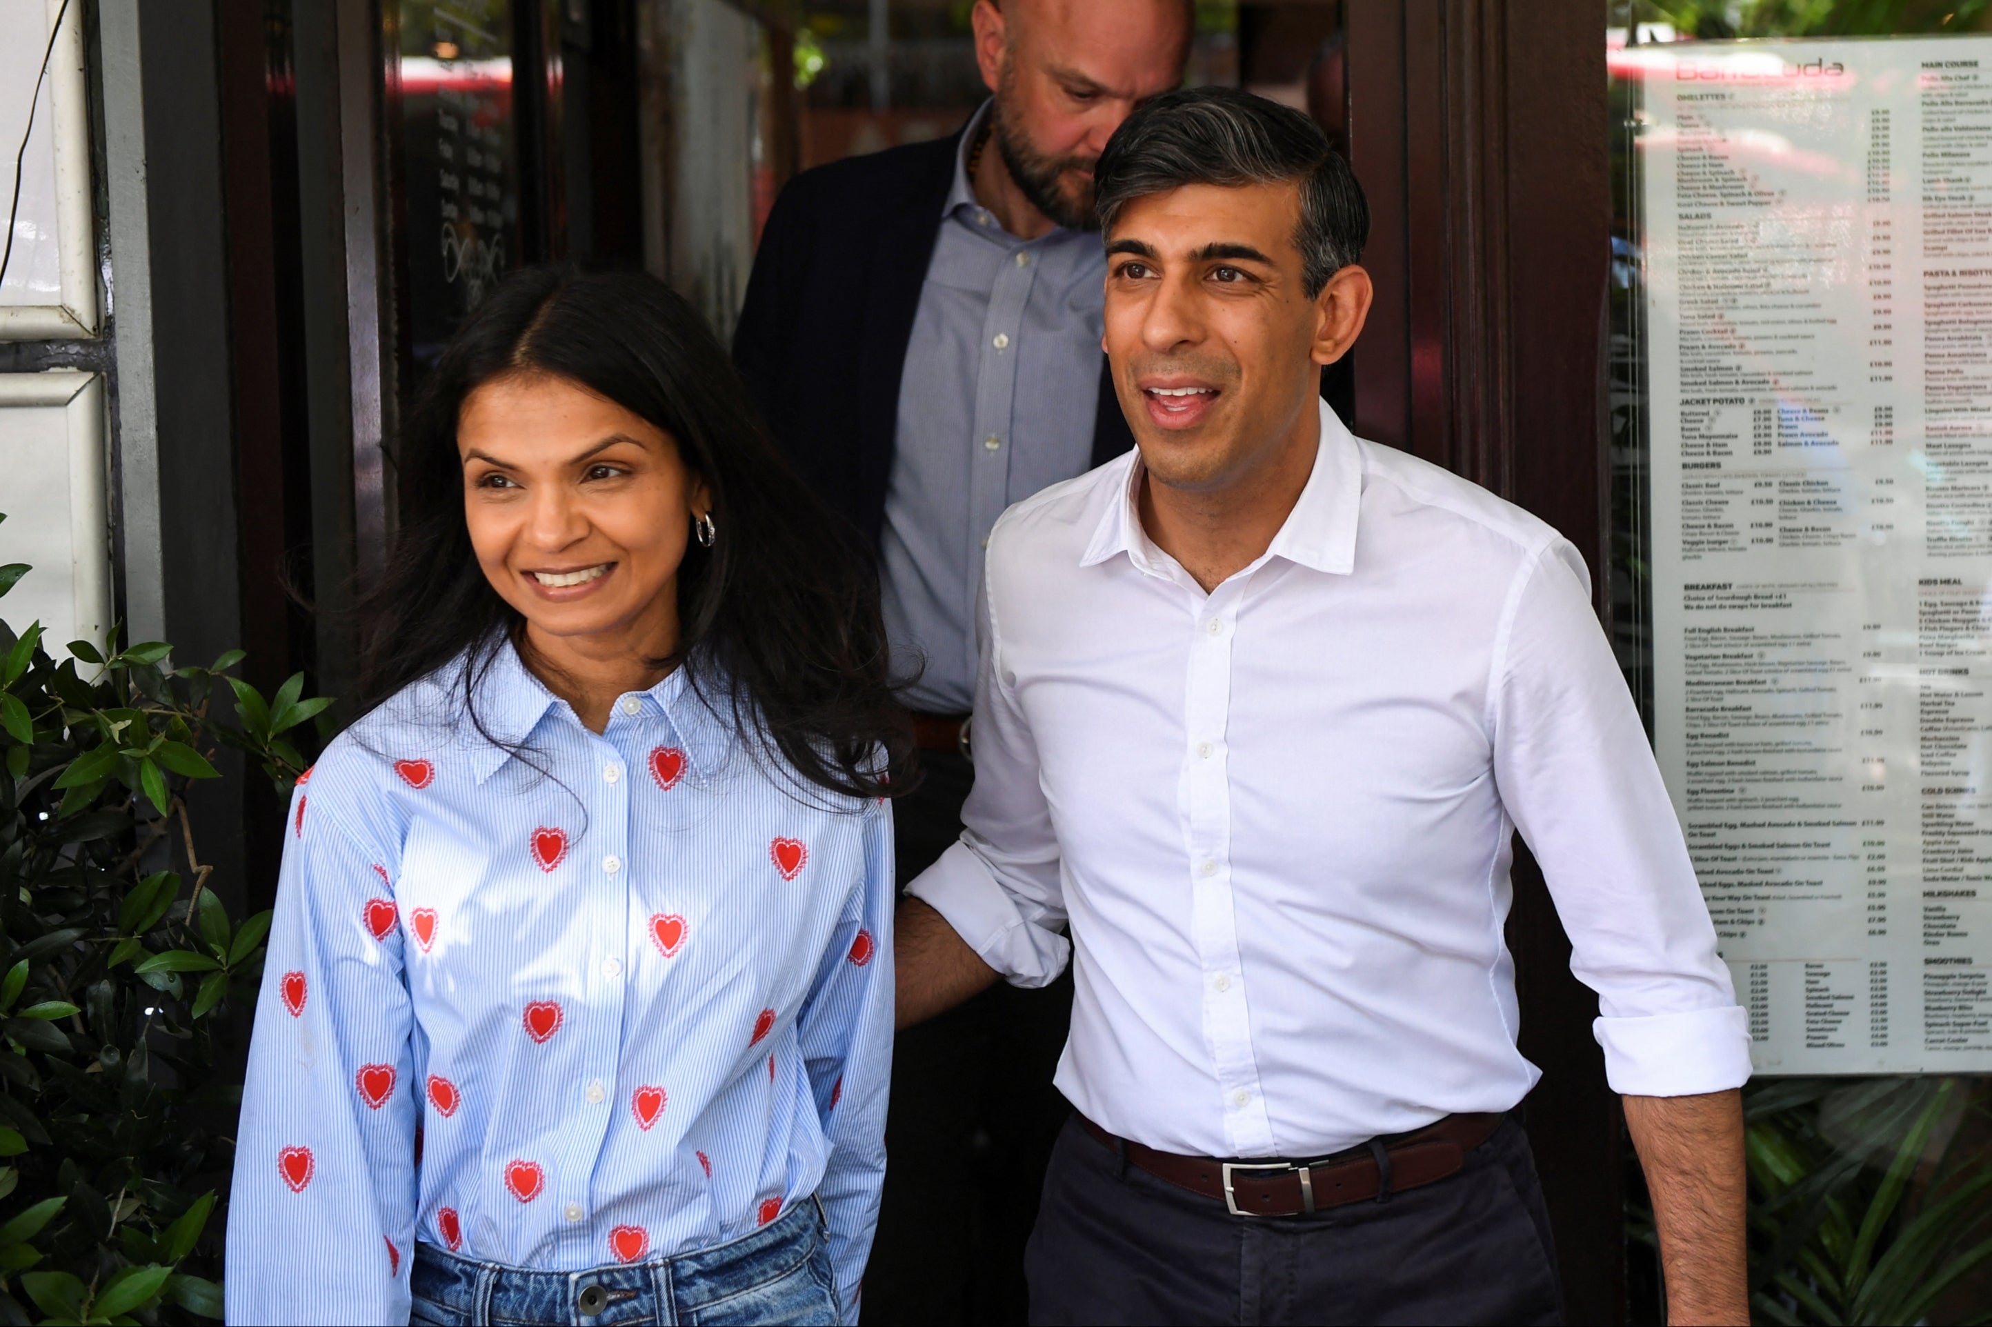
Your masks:
[[[4,520],[4,516],[0,516]],[[0,596],[28,572],[0,568]],[[0,1319],[221,1317],[239,1028],[269,913],[235,921],[185,791],[223,747],[287,793],[329,705],[171,648],[0,622]],[[229,703],[233,719],[215,713]],[[309,729],[305,729],[309,731]]]

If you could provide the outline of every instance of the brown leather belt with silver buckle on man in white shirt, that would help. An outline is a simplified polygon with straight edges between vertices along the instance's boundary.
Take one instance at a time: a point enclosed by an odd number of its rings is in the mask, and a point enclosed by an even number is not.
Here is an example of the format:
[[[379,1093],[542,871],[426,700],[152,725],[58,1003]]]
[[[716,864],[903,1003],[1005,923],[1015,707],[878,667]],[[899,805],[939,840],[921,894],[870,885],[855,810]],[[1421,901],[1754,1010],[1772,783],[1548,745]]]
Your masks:
[[[1155,1152],[1108,1134],[1080,1116],[1100,1144],[1121,1152],[1157,1180],[1223,1199],[1233,1215],[1301,1215],[1378,1194],[1414,1190],[1456,1174],[1466,1154],[1484,1144],[1506,1116],[1446,1116],[1412,1134],[1376,1140],[1319,1162],[1217,1162],[1205,1156]]]

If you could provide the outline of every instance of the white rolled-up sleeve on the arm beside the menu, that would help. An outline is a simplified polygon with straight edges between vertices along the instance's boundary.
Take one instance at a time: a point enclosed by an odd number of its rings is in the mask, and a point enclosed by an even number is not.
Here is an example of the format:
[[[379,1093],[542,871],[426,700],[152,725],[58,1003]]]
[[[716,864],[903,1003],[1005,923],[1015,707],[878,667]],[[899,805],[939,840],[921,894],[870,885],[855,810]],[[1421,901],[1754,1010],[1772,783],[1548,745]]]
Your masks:
[[[1496,648],[1494,779],[1542,863],[1570,968],[1598,992],[1606,1076],[1627,1096],[1749,1078],[1749,1028],[1659,765],[1592,612],[1576,548],[1522,568]]]

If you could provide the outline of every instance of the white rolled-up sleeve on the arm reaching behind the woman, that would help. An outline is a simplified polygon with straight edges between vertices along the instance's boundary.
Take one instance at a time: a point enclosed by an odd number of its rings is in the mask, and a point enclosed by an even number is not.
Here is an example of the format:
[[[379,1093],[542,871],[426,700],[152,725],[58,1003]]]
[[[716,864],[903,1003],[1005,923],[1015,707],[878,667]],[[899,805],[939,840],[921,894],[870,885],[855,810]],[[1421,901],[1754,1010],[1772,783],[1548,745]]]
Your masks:
[[[946,917],[1012,986],[1044,986],[1072,958],[1058,833],[1038,783],[1030,721],[1012,691],[1016,677],[1004,669],[990,574],[978,622],[976,785],[962,809],[966,829],[906,893]]]

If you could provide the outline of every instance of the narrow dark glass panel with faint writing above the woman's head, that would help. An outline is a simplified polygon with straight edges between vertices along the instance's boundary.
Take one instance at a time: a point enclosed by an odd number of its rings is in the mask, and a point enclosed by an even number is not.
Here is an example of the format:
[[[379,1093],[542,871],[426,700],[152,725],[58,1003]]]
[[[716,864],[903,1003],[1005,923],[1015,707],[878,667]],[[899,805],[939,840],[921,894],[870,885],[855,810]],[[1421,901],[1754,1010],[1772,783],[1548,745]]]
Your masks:
[[[518,263],[510,0],[402,0],[400,155],[414,379]],[[414,387],[410,381],[406,387]]]

